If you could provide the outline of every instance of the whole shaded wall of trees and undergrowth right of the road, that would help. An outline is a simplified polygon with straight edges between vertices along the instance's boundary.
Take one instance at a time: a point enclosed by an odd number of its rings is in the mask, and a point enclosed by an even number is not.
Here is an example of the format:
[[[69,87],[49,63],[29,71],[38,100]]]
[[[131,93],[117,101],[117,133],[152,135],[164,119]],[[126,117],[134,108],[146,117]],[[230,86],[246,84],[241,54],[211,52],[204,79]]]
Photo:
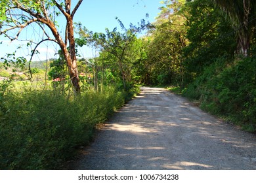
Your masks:
[[[255,133],[256,5],[251,2],[242,7],[241,2],[187,1],[182,6],[186,9],[182,14],[186,16],[189,44],[182,48],[183,85],[171,90]]]

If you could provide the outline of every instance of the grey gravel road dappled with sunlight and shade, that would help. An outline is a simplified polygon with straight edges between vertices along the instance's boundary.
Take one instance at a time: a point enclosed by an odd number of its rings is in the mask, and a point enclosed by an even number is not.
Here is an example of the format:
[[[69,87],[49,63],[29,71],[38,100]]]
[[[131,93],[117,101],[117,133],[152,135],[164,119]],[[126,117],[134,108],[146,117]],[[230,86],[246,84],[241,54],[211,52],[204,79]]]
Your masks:
[[[256,137],[162,88],[141,93],[103,127],[74,169],[256,169]]]

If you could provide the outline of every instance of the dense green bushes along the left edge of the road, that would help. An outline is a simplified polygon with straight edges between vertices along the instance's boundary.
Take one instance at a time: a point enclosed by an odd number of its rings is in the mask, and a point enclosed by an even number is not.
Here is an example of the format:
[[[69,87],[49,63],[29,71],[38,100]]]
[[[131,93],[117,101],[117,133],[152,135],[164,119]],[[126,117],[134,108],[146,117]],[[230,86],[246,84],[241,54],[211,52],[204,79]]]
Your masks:
[[[69,99],[56,91],[22,91],[1,100],[0,169],[58,169],[125,100],[114,88]]]

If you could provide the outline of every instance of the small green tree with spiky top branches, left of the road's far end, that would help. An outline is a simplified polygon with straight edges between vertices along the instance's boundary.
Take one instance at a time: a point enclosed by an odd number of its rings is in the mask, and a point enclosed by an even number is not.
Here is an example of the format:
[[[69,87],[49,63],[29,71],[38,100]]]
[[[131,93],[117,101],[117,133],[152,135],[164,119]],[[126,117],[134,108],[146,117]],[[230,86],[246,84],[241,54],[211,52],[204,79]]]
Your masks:
[[[121,20],[118,18],[116,20],[123,32],[117,31],[117,27],[115,27],[112,31],[106,28],[106,33],[93,33],[86,27],[81,27],[81,24],[77,24],[80,35],[80,39],[77,39],[77,41],[84,40],[95,49],[100,48],[99,61],[96,65],[101,67],[101,76],[104,76],[103,70],[108,69],[106,74],[114,76],[117,81],[117,87],[123,86],[123,89],[128,91],[129,86],[125,85],[137,80],[137,77],[133,76],[135,74],[133,72],[133,63],[140,57],[140,41],[136,36],[151,25],[142,19],[138,25],[130,24],[127,29]],[[97,67],[96,65],[94,66]],[[102,69],[104,66],[105,69]],[[97,70],[98,68],[95,69]],[[109,72],[110,70],[111,73]],[[123,82],[122,84],[119,82],[120,80]],[[108,79],[104,81],[105,83],[109,82]]]

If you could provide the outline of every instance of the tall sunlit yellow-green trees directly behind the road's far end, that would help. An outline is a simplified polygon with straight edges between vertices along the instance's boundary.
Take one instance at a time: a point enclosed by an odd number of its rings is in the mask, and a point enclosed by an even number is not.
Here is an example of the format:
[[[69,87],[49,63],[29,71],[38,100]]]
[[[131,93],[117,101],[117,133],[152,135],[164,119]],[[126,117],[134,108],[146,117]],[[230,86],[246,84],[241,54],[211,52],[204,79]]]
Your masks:
[[[153,85],[181,85],[182,48],[186,46],[185,17],[180,13],[184,1],[164,1],[161,13],[148,37],[141,39],[136,71],[140,82]],[[139,78],[139,77],[138,77]]]

